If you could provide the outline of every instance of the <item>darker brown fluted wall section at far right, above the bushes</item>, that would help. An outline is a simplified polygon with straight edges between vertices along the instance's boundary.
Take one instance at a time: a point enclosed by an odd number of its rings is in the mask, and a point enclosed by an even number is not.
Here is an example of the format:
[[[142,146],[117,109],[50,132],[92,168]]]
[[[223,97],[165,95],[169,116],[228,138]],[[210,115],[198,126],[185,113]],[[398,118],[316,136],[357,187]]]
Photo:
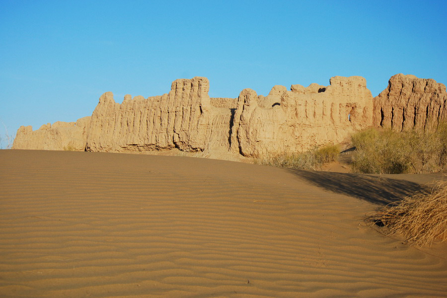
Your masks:
[[[434,79],[396,74],[374,97],[374,126],[395,131],[433,130],[443,121],[447,121],[446,85]]]

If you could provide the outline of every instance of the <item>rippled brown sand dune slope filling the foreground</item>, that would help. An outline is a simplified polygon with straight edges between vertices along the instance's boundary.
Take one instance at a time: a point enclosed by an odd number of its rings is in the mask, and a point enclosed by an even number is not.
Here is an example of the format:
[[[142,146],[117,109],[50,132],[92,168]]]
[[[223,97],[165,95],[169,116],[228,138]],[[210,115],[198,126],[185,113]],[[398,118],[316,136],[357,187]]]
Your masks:
[[[0,167],[0,297],[447,293],[447,245],[361,219],[417,176],[38,150],[0,150]]]

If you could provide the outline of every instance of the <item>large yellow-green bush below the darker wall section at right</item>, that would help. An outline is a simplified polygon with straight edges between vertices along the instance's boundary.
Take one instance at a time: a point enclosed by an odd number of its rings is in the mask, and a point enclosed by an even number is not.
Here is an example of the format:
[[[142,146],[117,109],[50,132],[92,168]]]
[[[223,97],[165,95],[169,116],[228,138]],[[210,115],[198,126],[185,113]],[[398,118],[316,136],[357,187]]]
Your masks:
[[[434,132],[373,128],[352,136],[354,172],[401,174],[438,172],[447,166],[447,125]]]

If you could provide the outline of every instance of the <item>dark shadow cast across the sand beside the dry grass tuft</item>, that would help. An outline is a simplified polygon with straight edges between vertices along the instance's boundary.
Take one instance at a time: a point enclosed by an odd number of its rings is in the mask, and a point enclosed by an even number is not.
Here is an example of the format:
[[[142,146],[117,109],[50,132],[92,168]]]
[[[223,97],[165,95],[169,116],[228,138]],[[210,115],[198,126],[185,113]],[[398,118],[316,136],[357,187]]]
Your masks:
[[[417,191],[427,190],[426,186],[415,182],[366,174],[289,170],[316,186],[376,205],[387,205]]]

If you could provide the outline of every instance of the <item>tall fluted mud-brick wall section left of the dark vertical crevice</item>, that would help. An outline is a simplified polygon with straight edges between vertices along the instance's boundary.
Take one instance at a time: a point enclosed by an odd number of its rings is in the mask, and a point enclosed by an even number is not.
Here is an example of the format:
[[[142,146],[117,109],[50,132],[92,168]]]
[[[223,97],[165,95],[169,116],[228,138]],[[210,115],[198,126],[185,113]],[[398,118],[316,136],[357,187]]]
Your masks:
[[[228,139],[231,113],[229,108],[214,107],[208,90],[207,78],[194,77],[175,80],[170,92],[161,96],[126,95],[121,104],[106,92],[92,114],[87,149],[202,151],[215,147]]]

